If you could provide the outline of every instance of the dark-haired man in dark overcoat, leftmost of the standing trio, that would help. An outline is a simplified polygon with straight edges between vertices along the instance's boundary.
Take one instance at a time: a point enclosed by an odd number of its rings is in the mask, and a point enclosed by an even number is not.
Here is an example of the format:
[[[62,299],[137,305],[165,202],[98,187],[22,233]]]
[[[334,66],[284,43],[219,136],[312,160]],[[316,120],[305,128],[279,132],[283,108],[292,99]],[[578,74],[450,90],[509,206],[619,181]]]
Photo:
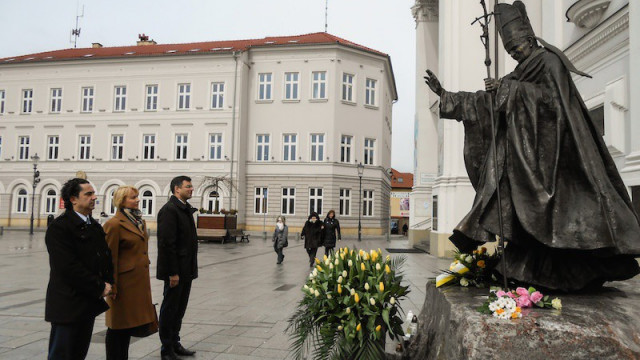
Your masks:
[[[51,323],[49,359],[84,359],[96,316],[109,306],[113,265],[102,226],[91,217],[96,194],[84,179],[62,187],[66,211],[47,229],[49,286],[45,304]]]

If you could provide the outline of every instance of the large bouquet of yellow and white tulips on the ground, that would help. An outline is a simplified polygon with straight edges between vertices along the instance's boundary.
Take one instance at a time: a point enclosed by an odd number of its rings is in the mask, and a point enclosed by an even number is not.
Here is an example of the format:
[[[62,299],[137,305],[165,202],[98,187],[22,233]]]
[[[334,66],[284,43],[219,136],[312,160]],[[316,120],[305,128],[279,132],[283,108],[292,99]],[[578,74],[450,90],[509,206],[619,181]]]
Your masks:
[[[316,266],[287,332],[295,359],[383,359],[386,333],[400,339],[399,301],[409,293],[399,269],[405,258],[341,248]]]

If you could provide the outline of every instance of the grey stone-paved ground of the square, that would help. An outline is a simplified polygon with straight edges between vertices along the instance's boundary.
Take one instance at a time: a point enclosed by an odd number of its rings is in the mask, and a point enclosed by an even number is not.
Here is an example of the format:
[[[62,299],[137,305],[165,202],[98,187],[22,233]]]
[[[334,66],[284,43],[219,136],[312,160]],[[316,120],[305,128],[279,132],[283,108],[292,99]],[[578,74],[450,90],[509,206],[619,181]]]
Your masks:
[[[181,331],[195,359],[285,359],[289,340],[287,319],[301,299],[300,287],[309,274],[307,255],[299,240],[290,240],[282,265],[270,240],[253,235],[250,243],[201,243],[199,275],[194,281]],[[407,248],[402,237],[345,239],[338,246],[360,249]],[[150,242],[151,274],[155,274],[156,239]],[[319,254],[322,249],[320,249]],[[391,254],[392,256],[398,254]],[[404,254],[405,281],[411,293],[405,311],[419,312],[429,277],[447,260],[425,253]],[[44,321],[49,263],[44,233],[4,231],[0,236],[0,358],[44,359],[50,325]],[[162,302],[162,282],[152,277],[153,299]],[[159,309],[159,305],[158,305]],[[96,319],[88,359],[104,359],[104,315]],[[393,347],[387,341],[388,348]],[[157,334],[132,339],[130,359],[159,359]]]

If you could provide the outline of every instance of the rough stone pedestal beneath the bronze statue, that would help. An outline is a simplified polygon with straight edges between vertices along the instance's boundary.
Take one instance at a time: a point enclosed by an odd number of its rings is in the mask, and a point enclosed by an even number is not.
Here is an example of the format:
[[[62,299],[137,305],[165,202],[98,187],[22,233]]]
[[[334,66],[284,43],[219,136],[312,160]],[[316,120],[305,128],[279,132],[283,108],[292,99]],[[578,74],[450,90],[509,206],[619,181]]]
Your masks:
[[[521,319],[501,320],[476,311],[487,289],[429,282],[418,332],[402,358],[640,359],[640,280],[607,285],[557,294],[562,310],[524,309]]]

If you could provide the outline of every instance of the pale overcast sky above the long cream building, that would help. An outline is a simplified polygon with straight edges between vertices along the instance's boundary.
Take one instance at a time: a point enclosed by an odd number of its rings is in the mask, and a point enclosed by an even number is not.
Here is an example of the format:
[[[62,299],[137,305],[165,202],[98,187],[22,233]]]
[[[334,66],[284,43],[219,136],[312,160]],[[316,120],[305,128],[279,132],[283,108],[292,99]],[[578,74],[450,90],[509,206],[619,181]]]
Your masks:
[[[413,172],[414,0],[329,0],[329,33],[391,56],[391,165]],[[73,47],[134,45],[139,33],[159,44],[262,38],[324,31],[325,0],[0,0],[0,58]]]

